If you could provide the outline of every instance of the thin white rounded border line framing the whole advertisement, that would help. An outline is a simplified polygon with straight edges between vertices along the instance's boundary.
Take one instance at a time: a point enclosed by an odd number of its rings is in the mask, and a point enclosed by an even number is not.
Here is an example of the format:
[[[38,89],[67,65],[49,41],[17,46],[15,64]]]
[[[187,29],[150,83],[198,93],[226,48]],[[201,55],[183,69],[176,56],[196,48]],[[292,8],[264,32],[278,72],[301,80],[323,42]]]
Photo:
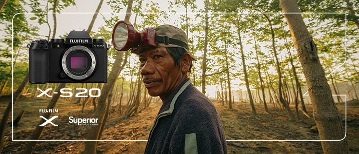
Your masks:
[[[14,69],[14,65],[13,65],[13,54],[14,54],[14,47],[13,47],[13,42],[14,42],[14,17],[17,14],[54,14],[54,13],[16,13],[13,17],[12,17],[12,44],[11,44],[11,66],[12,69]],[[55,14],[95,14],[95,13],[55,13]],[[99,14],[99,13],[96,13]],[[127,13],[101,13],[101,14],[127,14]],[[140,13],[131,13],[131,14],[140,14]],[[186,14],[186,13],[141,13],[141,14]],[[187,14],[345,14],[345,61],[343,64],[341,64],[338,68],[340,68],[342,65],[344,65],[347,62],[347,13],[294,13],[294,12],[289,12],[289,13],[202,13],[202,12],[196,12],[196,13],[187,13]],[[335,70],[333,70],[330,74],[332,74],[334,71],[336,71],[338,68],[336,68]],[[328,76],[330,75],[328,74],[326,76],[326,78],[328,78]],[[12,75],[12,89],[14,88],[14,80],[13,80],[13,76],[14,76],[14,72],[12,71],[11,73]],[[304,93],[303,95],[309,96],[308,91],[306,93]],[[346,94],[333,94],[333,95],[340,95],[340,96],[345,96],[345,136],[343,139],[341,140],[226,140],[226,141],[342,141],[346,138],[347,136],[347,95]],[[14,121],[14,90],[12,90],[12,97],[11,97],[11,101],[12,101],[12,121]],[[147,140],[14,140],[14,124],[12,123],[12,132],[11,132],[11,140],[12,141],[147,141]]]

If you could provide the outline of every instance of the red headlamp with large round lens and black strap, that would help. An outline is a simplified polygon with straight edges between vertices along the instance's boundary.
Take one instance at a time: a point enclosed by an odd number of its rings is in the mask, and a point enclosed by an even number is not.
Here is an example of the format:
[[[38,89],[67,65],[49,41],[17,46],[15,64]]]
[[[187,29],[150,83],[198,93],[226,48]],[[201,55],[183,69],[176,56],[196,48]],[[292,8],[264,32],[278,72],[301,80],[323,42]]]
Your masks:
[[[131,49],[133,53],[141,53],[156,48],[157,43],[174,44],[188,50],[188,45],[182,41],[168,36],[158,36],[152,28],[138,32],[131,23],[125,21],[117,22],[112,31],[112,44],[118,51]]]

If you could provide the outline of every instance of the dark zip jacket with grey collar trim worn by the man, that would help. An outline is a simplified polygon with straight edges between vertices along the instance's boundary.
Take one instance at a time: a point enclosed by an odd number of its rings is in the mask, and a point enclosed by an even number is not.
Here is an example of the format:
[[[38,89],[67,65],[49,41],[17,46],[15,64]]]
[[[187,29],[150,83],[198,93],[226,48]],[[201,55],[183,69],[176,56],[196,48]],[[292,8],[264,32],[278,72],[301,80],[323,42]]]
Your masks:
[[[191,80],[182,82],[159,109],[145,153],[227,153],[217,109]]]

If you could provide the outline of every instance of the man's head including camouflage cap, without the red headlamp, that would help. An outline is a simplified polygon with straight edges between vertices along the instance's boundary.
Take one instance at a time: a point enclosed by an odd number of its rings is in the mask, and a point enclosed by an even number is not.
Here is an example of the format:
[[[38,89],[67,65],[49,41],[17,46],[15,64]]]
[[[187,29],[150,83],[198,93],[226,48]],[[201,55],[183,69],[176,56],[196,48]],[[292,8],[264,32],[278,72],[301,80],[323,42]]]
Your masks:
[[[148,93],[165,101],[173,90],[188,78],[187,72],[191,70],[192,60],[196,59],[188,51],[187,35],[181,29],[162,25],[154,30],[158,36],[168,36],[180,41],[180,45],[187,45],[186,48],[176,45],[177,43],[157,43],[156,48],[138,53],[141,74]]]

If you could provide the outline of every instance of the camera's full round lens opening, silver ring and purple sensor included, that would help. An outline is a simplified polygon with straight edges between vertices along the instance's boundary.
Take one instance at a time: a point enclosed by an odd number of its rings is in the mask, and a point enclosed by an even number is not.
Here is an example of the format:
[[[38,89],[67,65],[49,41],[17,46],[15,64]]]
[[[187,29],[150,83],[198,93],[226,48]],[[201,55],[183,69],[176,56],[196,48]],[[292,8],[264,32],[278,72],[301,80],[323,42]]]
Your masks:
[[[85,80],[94,72],[96,59],[89,48],[85,46],[73,46],[65,51],[61,65],[69,78]]]

